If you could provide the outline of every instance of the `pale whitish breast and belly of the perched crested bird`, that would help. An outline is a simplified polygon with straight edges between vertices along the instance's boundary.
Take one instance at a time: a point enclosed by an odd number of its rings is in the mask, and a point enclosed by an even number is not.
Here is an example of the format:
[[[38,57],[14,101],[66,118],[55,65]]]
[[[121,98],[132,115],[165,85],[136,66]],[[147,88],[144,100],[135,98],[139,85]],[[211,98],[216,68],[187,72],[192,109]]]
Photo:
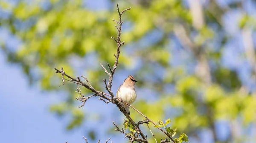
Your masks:
[[[119,92],[116,94],[116,97],[123,100],[128,104],[133,104],[137,98],[134,88],[120,87]]]

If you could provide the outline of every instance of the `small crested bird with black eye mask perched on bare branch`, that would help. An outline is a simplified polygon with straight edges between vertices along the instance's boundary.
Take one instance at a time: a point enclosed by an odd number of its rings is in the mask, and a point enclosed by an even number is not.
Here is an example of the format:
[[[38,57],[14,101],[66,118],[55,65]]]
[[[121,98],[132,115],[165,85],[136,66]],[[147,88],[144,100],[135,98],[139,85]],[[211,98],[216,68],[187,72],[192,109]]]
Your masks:
[[[116,97],[128,104],[133,104],[137,98],[134,84],[137,82],[131,75],[125,79],[122,85],[118,88],[116,92]],[[124,107],[128,115],[130,115],[129,107],[124,103]]]

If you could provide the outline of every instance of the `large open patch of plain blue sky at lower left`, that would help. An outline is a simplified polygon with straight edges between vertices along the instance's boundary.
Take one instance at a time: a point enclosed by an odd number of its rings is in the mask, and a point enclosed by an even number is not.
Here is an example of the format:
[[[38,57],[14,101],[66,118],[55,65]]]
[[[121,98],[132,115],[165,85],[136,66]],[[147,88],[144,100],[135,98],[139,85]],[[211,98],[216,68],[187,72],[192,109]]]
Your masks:
[[[29,86],[20,67],[7,64],[0,52],[0,135],[3,143],[83,143],[83,132],[67,132],[63,119],[49,112],[55,93]]]

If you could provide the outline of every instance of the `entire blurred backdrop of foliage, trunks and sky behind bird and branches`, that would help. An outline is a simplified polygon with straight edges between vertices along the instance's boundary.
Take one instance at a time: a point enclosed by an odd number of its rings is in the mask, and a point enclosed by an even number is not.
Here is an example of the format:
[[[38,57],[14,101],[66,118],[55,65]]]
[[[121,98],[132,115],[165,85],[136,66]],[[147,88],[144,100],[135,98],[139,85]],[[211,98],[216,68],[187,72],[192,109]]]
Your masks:
[[[131,10],[113,92],[131,74],[134,107],[155,122],[171,118],[189,143],[255,143],[255,0],[0,0],[1,142],[128,142],[112,125],[124,120],[117,107],[90,98],[79,109],[77,86],[59,87],[54,70],[105,91],[100,63],[114,62],[116,3]]]

